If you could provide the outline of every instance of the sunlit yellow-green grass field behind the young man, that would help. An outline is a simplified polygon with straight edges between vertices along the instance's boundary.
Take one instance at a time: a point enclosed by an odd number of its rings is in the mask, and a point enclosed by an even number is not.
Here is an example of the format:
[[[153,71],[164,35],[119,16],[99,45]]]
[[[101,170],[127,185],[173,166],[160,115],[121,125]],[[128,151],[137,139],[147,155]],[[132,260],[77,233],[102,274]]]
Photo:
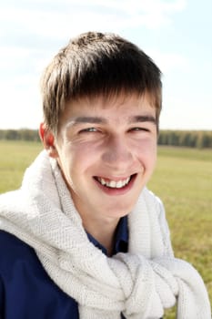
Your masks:
[[[0,192],[20,186],[41,149],[39,143],[0,141]],[[165,204],[176,256],[201,273],[212,303],[212,150],[160,147],[148,187]]]

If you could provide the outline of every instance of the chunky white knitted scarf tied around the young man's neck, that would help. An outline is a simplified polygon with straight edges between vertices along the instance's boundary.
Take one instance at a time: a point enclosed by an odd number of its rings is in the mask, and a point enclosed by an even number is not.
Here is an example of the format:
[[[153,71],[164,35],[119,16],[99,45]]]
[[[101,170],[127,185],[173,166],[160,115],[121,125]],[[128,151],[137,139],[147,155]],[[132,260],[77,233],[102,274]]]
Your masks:
[[[89,242],[55,160],[43,151],[20,190],[0,197],[0,229],[31,245],[52,280],[79,304],[80,319],[210,319],[204,283],[174,258],[164,209],[143,190],[128,215],[127,253],[106,257]]]

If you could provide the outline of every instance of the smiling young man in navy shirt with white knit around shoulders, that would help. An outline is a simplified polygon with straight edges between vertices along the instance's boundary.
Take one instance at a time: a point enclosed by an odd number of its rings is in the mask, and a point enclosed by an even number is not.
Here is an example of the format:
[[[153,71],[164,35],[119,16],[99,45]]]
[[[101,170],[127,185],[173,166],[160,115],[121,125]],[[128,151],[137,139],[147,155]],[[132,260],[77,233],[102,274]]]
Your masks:
[[[210,319],[174,257],[156,165],[161,72],[120,36],[86,33],[42,77],[45,150],[0,199],[3,319]]]

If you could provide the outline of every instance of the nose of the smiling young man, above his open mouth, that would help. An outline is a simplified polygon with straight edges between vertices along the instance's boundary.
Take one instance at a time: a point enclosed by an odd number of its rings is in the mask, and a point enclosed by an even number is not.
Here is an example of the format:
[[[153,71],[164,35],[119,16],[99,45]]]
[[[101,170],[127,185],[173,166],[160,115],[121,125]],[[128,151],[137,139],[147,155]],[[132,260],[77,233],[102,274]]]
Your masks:
[[[116,170],[125,170],[132,163],[132,149],[125,138],[111,137],[106,143],[102,160],[107,166]]]

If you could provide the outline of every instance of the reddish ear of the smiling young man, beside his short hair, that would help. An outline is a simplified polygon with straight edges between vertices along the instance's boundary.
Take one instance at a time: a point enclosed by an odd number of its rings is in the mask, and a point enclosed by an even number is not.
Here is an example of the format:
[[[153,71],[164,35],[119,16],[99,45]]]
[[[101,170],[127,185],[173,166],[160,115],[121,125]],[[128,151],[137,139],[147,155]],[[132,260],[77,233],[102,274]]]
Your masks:
[[[39,135],[48,155],[51,158],[56,159],[58,157],[58,153],[55,145],[55,137],[52,131],[46,128],[45,123],[40,124]]]

